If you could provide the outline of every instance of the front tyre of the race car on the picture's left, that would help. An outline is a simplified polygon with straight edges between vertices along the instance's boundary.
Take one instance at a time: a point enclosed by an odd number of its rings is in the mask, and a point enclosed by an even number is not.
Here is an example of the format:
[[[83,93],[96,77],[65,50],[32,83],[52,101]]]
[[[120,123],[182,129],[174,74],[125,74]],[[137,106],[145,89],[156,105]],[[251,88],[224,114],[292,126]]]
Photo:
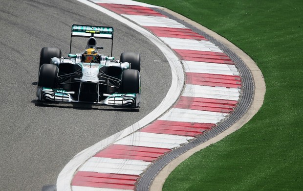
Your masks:
[[[38,86],[56,88],[58,67],[53,64],[43,64],[39,71]]]

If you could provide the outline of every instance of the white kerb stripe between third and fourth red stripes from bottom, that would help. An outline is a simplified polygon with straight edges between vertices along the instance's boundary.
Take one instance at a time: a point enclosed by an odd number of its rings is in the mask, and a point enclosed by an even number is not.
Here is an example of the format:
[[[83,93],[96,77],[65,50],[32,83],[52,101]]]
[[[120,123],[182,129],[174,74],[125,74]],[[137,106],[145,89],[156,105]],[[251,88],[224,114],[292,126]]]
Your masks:
[[[219,112],[172,108],[159,119],[180,122],[217,123],[224,119],[226,115]]]

